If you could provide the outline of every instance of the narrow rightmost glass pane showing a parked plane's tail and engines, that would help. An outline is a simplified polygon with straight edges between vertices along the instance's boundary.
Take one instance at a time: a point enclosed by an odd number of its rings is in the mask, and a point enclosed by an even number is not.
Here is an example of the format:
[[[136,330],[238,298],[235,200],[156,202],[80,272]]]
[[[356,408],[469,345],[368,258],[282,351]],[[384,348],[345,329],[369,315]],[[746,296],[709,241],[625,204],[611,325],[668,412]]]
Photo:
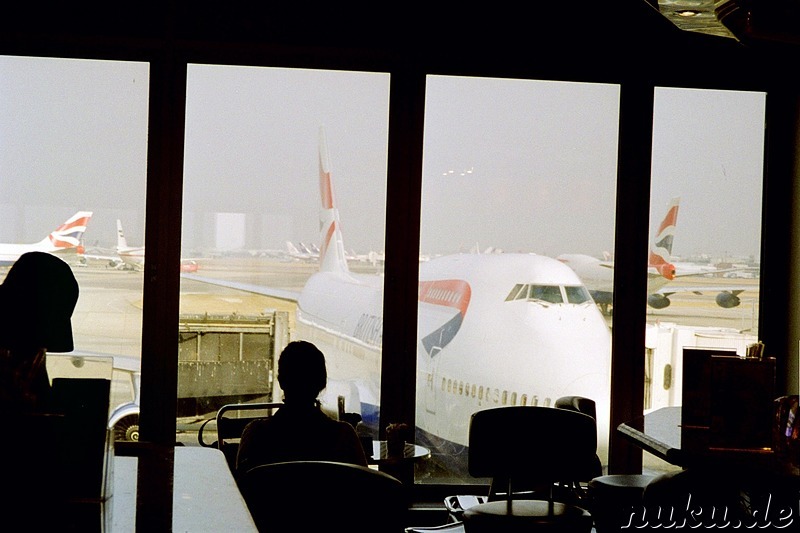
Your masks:
[[[682,404],[684,347],[744,355],[758,340],[765,105],[759,92],[656,89],[646,412]]]

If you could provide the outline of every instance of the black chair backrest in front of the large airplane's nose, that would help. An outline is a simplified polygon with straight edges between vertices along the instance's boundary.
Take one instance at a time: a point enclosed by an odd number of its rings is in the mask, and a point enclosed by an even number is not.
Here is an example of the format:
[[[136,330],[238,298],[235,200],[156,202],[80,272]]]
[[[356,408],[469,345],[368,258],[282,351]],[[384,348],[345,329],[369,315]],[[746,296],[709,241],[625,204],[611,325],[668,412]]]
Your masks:
[[[549,484],[580,480],[592,468],[597,429],[590,416],[554,407],[510,406],[473,413],[469,473]],[[510,496],[509,496],[510,497]]]

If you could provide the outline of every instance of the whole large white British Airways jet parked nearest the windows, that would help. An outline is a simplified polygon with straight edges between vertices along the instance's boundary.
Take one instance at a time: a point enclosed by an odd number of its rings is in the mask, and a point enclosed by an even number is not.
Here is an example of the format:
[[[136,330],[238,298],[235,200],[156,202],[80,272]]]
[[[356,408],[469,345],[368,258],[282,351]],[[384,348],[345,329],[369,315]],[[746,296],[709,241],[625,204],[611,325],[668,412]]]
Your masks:
[[[320,132],[320,259],[299,293],[183,274],[297,302],[293,339],[326,354],[323,405],[377,428],[383,283],[348,268],[324,132]],[[566,265],[536,254],[456,254],[420,263],[417,442],[466,473],[469,417],[501,405],[597,402],[600,454],[609,424],[611,335],[586,287]],[[536,428],[531,428],[535,432]],[[535,435],[532,435],[535,438]]]

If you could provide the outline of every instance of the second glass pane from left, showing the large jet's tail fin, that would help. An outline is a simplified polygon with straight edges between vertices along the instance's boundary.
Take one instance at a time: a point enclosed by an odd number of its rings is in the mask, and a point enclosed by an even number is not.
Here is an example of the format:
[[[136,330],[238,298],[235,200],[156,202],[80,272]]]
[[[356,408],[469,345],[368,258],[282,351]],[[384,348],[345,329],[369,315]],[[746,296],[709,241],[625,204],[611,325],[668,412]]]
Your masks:
[[[387,74],[189,65],[185,428],[281,401],[277,356],[305,339],[326,357],[323,409],[341,396],[377,435],[388,102]]]

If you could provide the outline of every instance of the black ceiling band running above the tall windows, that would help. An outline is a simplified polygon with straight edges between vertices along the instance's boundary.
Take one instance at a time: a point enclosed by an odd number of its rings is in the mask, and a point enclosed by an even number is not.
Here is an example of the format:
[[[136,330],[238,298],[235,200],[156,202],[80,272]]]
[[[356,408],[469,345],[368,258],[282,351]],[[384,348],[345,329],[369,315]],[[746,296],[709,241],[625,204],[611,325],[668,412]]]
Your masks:
[[[677,83],[690,76],[702,85],[706,74],[718,81],[782,72],[782,60],[774,58],[794,44],[790,37],[763,38],[769,33],[763,29],[741,40],[682,31],[651,2],[657,0],[423,8],[174,0],[115,3],[113,10],[91,2],[38,2],[0,19],[0,53],[147,59],[177,51],[190,61],[374,69],[409,64],[443,74],[600,81],[633,73]],[[798,0],[784,2],[794,8]],[[729,22],[741,21],[743,13],[744,7]],[[753,19],[765,17],[747,18]]]

